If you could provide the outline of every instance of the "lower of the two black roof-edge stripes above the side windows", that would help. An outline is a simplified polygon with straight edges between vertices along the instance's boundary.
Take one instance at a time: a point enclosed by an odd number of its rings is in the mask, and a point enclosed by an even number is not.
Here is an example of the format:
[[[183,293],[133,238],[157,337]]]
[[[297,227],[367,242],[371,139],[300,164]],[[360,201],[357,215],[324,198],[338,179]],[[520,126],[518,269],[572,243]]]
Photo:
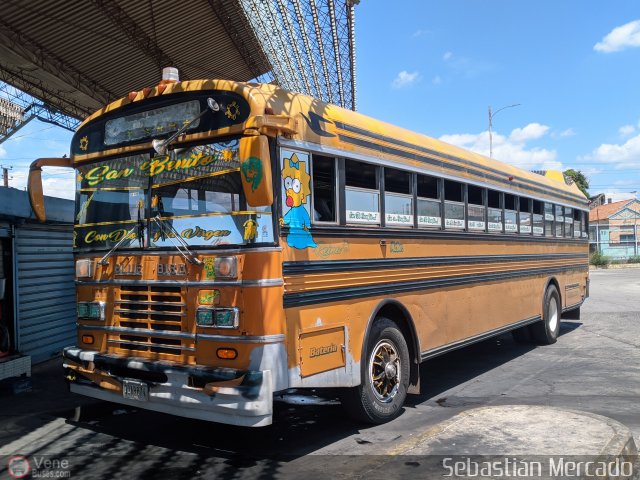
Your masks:
[[[453,165],[453,164],[449,164],[449,163],[443,163],[442,160],[435,160],[433,158],[430,157],[426,157],[424,155],[420,155],[418,153],[411,153],[411,152],[405,152],[404,150],[398,150],[397,148],[393,148],[393,147],[387,147],[384,145],[380,145],[378,143],[373,143],[370,142],[368,140],[363,140],[360,138],[355,138],[355,137],[350,137],[348,135],[344,135],[344,134],[339,134],[338,137],[340,138],[340,140],[342,140],[345,143],[351,143],[354,145],[358,145],[360,147],[364,147],[364,148],[369,148],[372,150],[378,150],[378,151],[383,151],[385,153],[388,153],[390,155],[396,155],[398,157],[402,157],[402,158],[406,158],[408,160],[415,160],[415,161],[419,161],[422,163],[428,163],[431,165],[435,165],[438,167],[442,167],[442,168],[448,168],[451,170],[457,170],[460,172],[466,172],[466,173],[472,173],[474,175],[477,175],[479,177],[485,178],[487,180],[492,180],[494,182],[497,182],[499,184],[502,185],[506,185],[509,187],[517,187],[517,188],[521,188],[524,190],[529,190],[532,192],[537,192],[540,193],[542,195],[550,195],[550,190],[555,190],[552,187],[545,187],[543,188],[536,188],[533,186],[528,186],[528,185],[522,185],[518,182],[514,181],[508,181],[505,180],[504,176],[503,177],[497,177],[491,174],[487,174],[484,173],[480,170],[477,170],[475,168],[472,167],[462,167],[460,165]],[[462,181],[464,181],[464,179],[461,179]],[[542,185],[541,185],[542,186]],[[562,192],[562,190],[557,190],[557,192]],[[574,204],[581,204],[580,208],[585,208],[586,207],[586,201],[587,199],[584,198],[584,201],[578,200],[579,197],[575,197],[571,194],[568,194],[566,192],[562,192],[562,193],[556,193],[554,194],[556,197],[558,198],[563,198],[566,201],[572,202]],[[549,200],[549,202],[552,202],[552,200]]]

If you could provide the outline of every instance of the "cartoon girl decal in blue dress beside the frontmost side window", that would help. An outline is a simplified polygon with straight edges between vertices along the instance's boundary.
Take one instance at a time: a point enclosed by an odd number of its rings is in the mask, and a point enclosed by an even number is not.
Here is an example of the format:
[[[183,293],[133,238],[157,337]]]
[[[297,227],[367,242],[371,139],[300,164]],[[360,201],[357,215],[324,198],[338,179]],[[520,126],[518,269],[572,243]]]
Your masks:
[[[301,160],[298,155],[304,159]],[[282,152],[282,203],[281,226],[288,226],[287,243],[290,247],[305,249],[317,245],[311,237],[309,203],[311,177],[308,171],[309,155],[298,152]],[[288,210],[285,212],[285,208]]]

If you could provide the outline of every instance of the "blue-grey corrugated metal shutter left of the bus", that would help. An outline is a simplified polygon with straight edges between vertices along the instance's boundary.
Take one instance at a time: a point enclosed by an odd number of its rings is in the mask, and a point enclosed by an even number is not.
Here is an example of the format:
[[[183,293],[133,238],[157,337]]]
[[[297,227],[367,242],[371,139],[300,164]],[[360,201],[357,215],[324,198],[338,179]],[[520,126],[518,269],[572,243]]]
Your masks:
[[[75,345],[73,227],[16,227],[18,348],[33,362]]]

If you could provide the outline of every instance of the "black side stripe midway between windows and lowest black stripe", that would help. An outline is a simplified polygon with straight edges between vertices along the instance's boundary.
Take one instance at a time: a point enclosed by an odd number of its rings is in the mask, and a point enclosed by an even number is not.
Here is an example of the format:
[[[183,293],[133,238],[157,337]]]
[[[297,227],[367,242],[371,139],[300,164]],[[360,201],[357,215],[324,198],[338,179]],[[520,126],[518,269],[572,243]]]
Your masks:
[[[577,260],[585,262],[589,256],[583,253],[554,253],[549,255],[474,255],[450,257],[409,257],[380,258],[370,260],[318,260],[303,262],[284,262],[283,274],[301,275],[313,273],[352,272],[357,270],[379,270],[392,268],[430,267],[435,265],[459,265],[475,263],[501,262],[543,262],[553,260]]]

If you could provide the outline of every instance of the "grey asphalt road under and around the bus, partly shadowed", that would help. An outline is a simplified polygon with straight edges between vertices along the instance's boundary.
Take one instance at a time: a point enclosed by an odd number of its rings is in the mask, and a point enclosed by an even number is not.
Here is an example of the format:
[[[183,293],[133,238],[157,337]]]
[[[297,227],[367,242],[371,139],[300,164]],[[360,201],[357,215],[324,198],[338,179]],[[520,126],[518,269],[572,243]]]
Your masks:
[[[364,478],[404,442],[465,409],[489,405],[604,415],[628,426],[640,445],[639,300],[640,269],[591,272],[582,318],[563,321],[556,344],[522,346],[503,335],[428,361],[421,367],[423,394],[410,396],[403,414],[386,425],[358,426],[339,405],[286,404],[276,407],[275,424],[262,429],[101,403],[84,407],[74,422],[68,420],[71,411],[43,413],[25,397],[19,414],[9,419],[0,413],[0,445],[13,442],[15,451],[2,450],[5,455],[71,459],[72,478],[268,478],[299,472]]]

